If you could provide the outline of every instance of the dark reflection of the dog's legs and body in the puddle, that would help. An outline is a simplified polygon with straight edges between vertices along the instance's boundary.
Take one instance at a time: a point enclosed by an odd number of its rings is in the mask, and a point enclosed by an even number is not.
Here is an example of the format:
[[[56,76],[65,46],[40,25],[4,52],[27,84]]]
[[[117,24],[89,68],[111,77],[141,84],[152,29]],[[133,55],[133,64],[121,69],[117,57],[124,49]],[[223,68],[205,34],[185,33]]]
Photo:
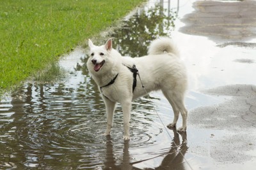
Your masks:
[[[173,141],[170,146],[170,150],[166,153],[161,153],[161,155],[157,155],[157,157],[164,157],[159,167],[155,167],[154,169],[186,169],[186,162],[184,160],[184,155],[188,151],[187,146],[187,134],[186,132],[177,132],[175,128],[172,129],[173,131]],[[182,141],[180,141],[180,137]],[[129,155],[129,141],[124,142],[124,155],[122,164],[116,164],[115,155],[113,153],[113,143],[111,141],[110,136],[107,137],[106,143],[106,162],[104,163],[104,169],[138,169],[133,165],[138,164],[143,161],[150,161],[150,159],[139,160],[137,162],[132,162],[131,157]],[[151,168],[143,168],[150,170]]]

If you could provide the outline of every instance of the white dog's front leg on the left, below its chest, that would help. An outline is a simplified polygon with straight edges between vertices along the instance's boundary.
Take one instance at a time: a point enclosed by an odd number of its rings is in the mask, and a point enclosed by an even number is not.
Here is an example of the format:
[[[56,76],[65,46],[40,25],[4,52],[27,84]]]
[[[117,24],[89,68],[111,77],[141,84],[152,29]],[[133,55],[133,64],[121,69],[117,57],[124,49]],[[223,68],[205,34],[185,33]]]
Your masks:
[[[113,101],[110,101],[109,99],[106,99],[106,97],[103,97],[103,99],[104,99],[104,103],[106,105],[106,111],[107,111],[107,129],[104,135],[107,136],[110,134],[111,127],[113,124],[113,115],[114,115],[116,103]]]

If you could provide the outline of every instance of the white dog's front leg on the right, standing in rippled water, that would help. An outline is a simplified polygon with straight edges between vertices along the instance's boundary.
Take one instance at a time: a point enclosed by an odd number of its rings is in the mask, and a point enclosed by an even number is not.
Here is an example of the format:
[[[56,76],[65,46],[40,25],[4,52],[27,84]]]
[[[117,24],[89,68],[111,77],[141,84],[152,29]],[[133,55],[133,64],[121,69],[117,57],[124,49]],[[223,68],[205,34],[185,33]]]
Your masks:
[[[130,139],[130,118],[131,118],[131,102],[121,103],[124,114],[124,140]]]

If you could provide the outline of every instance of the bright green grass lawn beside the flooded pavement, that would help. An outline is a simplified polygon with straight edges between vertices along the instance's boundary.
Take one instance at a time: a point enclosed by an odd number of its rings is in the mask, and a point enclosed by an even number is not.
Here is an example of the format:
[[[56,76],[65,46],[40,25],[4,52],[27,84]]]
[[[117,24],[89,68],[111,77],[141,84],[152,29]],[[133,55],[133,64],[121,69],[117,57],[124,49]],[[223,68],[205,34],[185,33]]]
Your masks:
[[[0,0],[0,90],[38,73],[144,0]]]

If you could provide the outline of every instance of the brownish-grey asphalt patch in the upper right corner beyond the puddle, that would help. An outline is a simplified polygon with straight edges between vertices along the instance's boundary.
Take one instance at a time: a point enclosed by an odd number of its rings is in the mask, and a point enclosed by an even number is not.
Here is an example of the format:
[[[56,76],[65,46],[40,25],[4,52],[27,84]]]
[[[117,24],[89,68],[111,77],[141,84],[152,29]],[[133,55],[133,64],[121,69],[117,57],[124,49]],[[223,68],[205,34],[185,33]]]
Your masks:
[[[256,37],[256,1],[196,1],[195,13],[184,18],[182,32],[217,41],[244,41]]]

